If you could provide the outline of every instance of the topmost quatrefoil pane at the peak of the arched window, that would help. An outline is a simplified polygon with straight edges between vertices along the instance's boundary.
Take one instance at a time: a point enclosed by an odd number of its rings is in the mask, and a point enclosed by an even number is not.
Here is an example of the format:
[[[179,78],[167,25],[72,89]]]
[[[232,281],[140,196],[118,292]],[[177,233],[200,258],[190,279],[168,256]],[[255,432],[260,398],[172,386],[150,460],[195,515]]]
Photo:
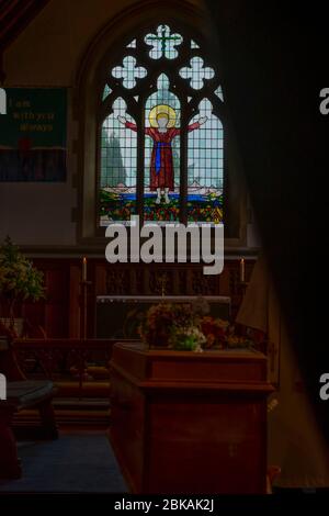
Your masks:
[[[178,56],[175,46],[182,43],[183,37],[180,34],[171,34],[168,25],[159,25],[157,34],[147,34],[144,41],[152,46],[149,51],[151,59],[160,59],[163,55],[167,59],[174,59]]]

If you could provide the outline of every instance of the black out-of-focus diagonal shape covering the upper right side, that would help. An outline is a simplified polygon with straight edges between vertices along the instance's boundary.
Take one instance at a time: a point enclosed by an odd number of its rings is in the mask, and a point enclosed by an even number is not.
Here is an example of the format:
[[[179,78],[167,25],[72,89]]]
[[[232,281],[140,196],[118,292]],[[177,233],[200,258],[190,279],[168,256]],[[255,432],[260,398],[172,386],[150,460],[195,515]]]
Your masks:
[[[329,436],[329,87],[322,2],[205,1],[242,170],[304,379]]]

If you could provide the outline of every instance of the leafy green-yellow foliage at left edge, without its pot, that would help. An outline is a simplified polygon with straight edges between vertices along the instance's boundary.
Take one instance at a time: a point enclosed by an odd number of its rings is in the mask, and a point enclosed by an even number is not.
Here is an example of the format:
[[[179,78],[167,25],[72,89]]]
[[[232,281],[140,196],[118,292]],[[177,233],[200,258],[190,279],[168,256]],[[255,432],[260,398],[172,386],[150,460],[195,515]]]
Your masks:
[[[0,294],[9,300],[44,298],[44,274],[8,236],[0,247]]]

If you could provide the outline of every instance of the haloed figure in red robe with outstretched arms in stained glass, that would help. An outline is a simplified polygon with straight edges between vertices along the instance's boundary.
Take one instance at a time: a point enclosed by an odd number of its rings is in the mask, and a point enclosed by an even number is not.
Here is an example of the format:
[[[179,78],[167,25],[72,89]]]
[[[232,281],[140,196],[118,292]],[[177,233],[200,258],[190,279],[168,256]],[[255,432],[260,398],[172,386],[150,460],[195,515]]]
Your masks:
[[[154,142],[150,160],[150,190],[157,192],[157,204],[160,204],[161,195],[164,197],[164,203],[169,204],[169,192],[174,191],[171,143],[181,133],[181,130],[175,127],[175,119],[174,109],[167,104],[158,104],[149,113],[150,127],[145,128],[145,134],[150,136]],[[137,132],[137,126],[128,122],[125,116],[120,115],[117,120],[127,128]],[[206,121],[206,116],[201,116],[196,122],[188,126],[188,131],[197,130]]]

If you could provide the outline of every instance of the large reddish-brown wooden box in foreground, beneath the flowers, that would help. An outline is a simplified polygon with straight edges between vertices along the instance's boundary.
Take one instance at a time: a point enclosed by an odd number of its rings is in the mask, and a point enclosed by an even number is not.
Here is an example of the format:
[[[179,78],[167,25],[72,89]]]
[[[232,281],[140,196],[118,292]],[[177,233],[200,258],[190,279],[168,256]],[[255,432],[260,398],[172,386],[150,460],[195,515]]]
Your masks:
[[[116,344],[110,440],[133,493],[265,493],[266,359]]]

